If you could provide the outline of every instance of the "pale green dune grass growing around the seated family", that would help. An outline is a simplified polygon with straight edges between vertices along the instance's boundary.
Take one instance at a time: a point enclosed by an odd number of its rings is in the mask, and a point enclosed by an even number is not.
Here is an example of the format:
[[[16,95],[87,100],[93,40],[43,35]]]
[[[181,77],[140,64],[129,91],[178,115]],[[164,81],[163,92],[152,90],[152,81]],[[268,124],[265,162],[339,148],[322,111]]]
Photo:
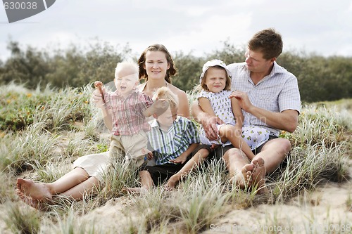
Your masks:
[[[349,99],[305,105],[298,129],[293,134],[282,132],[281,137],[291,141],[292,150],[287,164],[270,175],[269,195],[246,193],[232,186],[221,162],[190,174],[172,192],[156,188],[145,195],[125,195],[121,188],[136,186],[137,175],[123,171],[118,167],[121,162],[117,162],[106,174],[105,186],[98,195],[81,202],[60,200],[47,212],[33,213],[13,193],[16,177],[54,181],[70,170],[77,157],[108,150],[108,134],[103,133],[100,112],[89,103],[91,93],[90,86],[47,86],[35,91],[15,84],[0,86],[1,99],[10,100],[8,105],[1,104],[0,111],[1,233],[200,233],[212,231],[212,223],[230,212],[260,204],[285,204],[306,196],[298,205],[304,202],[319,206],[321,197],[310,198],[310,191],[327,181],[348,179],[348,163],[352,160]],[[341,105],[344,108],[339,109]],[[20,113],[27,117],[21,119]],[[122,208],[111,213],[116,213],[114,221],[103,223],[99,209],[118,202]],[[351,195],[344,202],[351,209]],[[312,221],[317,214],[312,216],[303,221],[303,226],[319,230],[318,223]],[[276,213],[268,215],[266,222],[272,226],[293,223],[281,221]],[[326,219],[322,224],[349,223],[341,217],[339,221]]]

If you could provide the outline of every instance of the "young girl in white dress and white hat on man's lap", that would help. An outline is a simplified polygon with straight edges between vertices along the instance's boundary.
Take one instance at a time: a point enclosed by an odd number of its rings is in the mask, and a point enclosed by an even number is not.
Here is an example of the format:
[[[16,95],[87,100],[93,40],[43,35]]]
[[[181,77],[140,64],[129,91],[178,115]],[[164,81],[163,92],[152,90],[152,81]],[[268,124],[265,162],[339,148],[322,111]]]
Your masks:
[[[219,117],[224,124],[218,124],[219,138],[217,141],[210,141],[206,132],[201,126],[199,136],[201,144],[208,147],[201,148],[182,169],[172,176],[167,184],[168,188],[175,187],[182,176],[188,174],[197,165],[208,157],[211,148],[225,145],[233,145],[244,152],[244,157],[252,160],[255,150],[265,141],[268,141],[270,131],[258,126],[246,124],[243,112],[236,98],[230,99],[232,93],[231,73],[227,70],[221,60],[210,60],[203,65],[203,72],[200,77],[199,94],[197,96],[199,105],[204,112],[213,117]],[[210,147],[211,145],[211,147]]]

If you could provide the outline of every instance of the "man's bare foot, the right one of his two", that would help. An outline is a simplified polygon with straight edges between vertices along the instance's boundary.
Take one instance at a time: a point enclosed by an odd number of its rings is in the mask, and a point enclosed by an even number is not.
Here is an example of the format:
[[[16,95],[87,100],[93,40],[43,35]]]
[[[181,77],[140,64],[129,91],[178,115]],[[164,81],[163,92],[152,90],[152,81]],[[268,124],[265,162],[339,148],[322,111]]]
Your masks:
[[[268,193],[268,188],[265,187],[265,174],[266,170],[264,167],[264,160],[261,157],[258,157],[257,159],[253,160],[251,162],[253,164],[253,173],[252,173],[252,178],[253,178],[253,186],[256,186],[256,189],[258,190],[258,194],[264,194]]]

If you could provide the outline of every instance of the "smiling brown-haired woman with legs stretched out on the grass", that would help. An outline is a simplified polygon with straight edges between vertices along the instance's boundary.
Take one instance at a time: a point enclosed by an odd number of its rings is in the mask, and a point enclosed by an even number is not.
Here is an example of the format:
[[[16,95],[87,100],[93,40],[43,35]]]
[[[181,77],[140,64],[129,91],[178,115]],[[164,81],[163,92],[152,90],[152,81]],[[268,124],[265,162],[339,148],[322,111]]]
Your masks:
[[[139,57],[138,65],[139,79],[146,79],[146,82],[139,85],[138,89],[152,97],[158,88],[167,86],[180,100],[177,115],[189,117],[187,94],[171,84],[171,76],[175,75],[177,70],[165,46],[153,44],[146,48]],[[101,95],[96,91],[93,93],[93,100],[96,105],[103,102]],[[52,183],[37,183],[29,179],[18,178],[16,192],[23,202],[37,209],[41,207],[41,203],[51,202],[55,195],[82,200],[83,197],[96,193],[102,182],[101,176],[94,174],[94,171],[89,170],[85,165],[92,160],[92,157],[107,157],[107,155],[107,152],[103,152],[78,158],[73,164],[72,171]],[[84,164],[84,168],[81,164]]]

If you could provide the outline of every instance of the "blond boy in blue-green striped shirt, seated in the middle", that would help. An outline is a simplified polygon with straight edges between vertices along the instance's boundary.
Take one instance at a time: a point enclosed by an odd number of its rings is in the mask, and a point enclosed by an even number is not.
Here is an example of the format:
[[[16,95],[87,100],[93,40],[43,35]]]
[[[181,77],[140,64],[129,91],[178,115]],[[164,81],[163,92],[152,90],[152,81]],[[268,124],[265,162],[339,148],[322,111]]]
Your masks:
[[[151,122],[148,132],[156,165],[144,166],[139,171],[142,188],[125,188],[128,192],[142,193],[153,186],[168,181],[170,176],[180,171],[188,157],[199,145],[196,124],[177,116],[178,99],[167,87],[162,87],[154,95],[156,100],[168,101],[170,108]]]

